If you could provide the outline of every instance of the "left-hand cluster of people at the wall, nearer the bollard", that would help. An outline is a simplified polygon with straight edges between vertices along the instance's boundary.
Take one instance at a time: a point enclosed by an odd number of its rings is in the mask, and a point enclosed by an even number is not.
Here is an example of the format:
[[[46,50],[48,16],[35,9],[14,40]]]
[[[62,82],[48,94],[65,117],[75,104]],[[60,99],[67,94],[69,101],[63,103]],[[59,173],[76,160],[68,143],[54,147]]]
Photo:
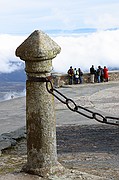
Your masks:
[[[82,84],[82,76],[83,76],[83,72],[81,71],[81,68],[72,68],[72,66],[70,66],[69,70],[68,70],[68,76],[69,76],[69,84]]]

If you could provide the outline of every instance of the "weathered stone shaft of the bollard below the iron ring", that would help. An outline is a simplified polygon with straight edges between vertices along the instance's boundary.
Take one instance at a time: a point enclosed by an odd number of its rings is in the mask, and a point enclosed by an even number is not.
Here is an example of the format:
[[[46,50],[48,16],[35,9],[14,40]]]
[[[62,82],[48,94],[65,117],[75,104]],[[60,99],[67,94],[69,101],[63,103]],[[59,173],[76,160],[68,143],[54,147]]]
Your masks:
[[[25,168],[35,174],[42,168],[43,175],[57,164],[54,99],[45,83],[27,81],[26,85],[28,164]]]

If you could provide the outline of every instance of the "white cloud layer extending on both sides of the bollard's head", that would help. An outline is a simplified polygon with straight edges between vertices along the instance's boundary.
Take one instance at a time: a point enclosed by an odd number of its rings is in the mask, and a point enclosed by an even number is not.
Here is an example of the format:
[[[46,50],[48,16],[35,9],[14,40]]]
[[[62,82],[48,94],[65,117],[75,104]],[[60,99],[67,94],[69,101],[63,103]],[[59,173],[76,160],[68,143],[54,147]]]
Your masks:
[[[0,73],[23,68],[15,50],[27,37],[0,35]],[[119,30],[51,38],[61,47],[61,53],[53,59],[56,72],[66,73],[71,65],[83,71],[88,71],[92,64],[95,68],[98,65],[119,68]]]

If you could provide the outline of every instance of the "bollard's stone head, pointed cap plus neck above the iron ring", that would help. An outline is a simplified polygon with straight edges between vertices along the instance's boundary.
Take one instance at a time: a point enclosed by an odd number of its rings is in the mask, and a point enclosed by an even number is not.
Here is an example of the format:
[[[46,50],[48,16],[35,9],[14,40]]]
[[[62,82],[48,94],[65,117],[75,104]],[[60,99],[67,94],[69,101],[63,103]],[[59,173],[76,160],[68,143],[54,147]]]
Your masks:
[[[16,56],[26,62],[25,71],[29,75],[47,76],[52,70],[52,59],[60,51],[60,46],[47,34],[36,30],[16,49]]]

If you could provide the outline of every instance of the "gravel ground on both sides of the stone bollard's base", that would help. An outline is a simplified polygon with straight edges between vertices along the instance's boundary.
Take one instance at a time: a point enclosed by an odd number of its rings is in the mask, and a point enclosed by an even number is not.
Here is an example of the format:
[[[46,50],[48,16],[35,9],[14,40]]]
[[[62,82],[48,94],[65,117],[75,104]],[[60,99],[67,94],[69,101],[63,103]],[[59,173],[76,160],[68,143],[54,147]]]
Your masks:
[[[118,180],[118,142],[119,128],[116,126],[100,124],[60,126],[57,127],[58,161],[70,173],[72,172],[70,178],[77,173],[79,177],[79,174],[83,172],[93,175],[94,179],[98,176],[103,179]],[[23,138],[13,148],[4,150],[0,160],[1,173],[3,169],[4,173],[19,172],[26,162],[26,139]],[[65,174],[65,179],[67,177],[68,175]]]

